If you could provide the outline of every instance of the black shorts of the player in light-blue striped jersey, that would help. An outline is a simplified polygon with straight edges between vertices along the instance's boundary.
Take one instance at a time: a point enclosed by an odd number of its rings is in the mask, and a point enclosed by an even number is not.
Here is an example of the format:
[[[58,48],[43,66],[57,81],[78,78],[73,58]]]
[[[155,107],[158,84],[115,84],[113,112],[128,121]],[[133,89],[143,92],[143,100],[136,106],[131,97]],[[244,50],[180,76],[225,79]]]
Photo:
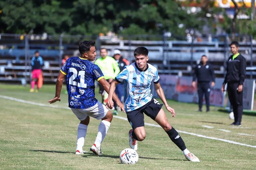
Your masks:
[[[134,130],[138,127],[144,126],[143,113],[145,113],[151,119],[155,120],[162,106],[163,104],[160,104],[157,99],[152,98],[152,100],[144,106],[133,111],[126,112],[127,119],[130,122],[132,129]]]

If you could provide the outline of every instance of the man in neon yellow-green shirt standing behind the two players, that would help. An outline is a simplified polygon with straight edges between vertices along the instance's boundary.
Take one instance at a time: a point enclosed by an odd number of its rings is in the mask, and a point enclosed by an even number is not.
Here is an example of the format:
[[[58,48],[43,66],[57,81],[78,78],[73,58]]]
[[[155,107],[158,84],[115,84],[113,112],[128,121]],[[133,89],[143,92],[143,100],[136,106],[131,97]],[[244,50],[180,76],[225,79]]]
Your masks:
[[[95,61],[95,64],[99,66],[100,70],[102,71],[104,78],[106,81],[111,83],[115,77],[119,74],[120,69],[118,67],[118,63],[113,59],[113,57],[110,57],[107,55],[107,49],[106,48],[101,48],[100,49],[100,58],[98,58]],[[106,100],[108,97],[108,94],[102,87],[102,85],[99,85],[99,93],[102,96],[102,103],[106,104]],[[116,103],[114,104],[114,112],[113,115],[117,115],[117,105]]]

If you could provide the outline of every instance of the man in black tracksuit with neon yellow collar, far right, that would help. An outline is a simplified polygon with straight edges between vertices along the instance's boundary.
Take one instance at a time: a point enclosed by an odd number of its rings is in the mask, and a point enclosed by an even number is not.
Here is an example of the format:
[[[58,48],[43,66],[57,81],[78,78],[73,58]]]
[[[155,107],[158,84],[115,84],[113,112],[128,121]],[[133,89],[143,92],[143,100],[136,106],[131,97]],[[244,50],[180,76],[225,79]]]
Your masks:
[[[246,60],[238,52],[239,44],[236,41],[231,42],[231,55],[227,62],[227,73],[221,88],[224,91],[227,83],[227,93],[232,105],[235,121],[231,125],[241,126],[243,114],[243,83],[246,76]]]

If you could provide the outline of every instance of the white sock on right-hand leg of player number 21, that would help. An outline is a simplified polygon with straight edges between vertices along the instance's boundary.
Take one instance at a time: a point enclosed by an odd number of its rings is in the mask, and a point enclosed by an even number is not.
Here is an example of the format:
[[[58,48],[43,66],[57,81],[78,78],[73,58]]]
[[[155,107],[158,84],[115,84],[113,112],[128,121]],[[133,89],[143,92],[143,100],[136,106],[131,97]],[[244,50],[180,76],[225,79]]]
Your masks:
[[[100,143],[103,141],[103,139],[105,138],[108,128],[110,127],[110,122],[106,121],[106,120],[102,120],[99,124],[99,131],[96,137],[96,140],[94,142],[94,144],[96,145],[96,147],[100,146]]]

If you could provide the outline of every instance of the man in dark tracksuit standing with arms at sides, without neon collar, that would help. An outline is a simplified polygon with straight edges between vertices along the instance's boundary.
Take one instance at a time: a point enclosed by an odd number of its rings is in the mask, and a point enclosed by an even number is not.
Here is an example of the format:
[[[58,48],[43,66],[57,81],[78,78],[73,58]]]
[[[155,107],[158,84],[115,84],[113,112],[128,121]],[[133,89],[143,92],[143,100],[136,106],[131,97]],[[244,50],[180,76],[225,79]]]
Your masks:
[[[195,80],[197,78],[198,104],[199,111],[202,111],[203,94],[206,102],[206,112],[210,111],[210,82],[211,86],[215,85],[215,76],[212,66],[205,55],[202,56],[201,62],[195,67],[192,86],[195,87]]]

